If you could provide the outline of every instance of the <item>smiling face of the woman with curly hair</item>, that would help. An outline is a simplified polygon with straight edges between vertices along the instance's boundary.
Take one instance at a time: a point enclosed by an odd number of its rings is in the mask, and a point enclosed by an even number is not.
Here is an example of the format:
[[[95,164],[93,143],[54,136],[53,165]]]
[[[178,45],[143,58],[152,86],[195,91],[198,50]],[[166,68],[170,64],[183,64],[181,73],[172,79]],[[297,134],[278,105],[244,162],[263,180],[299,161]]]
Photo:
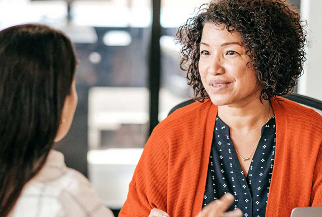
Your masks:
[[[240,34],[207,22],[200,42],[199,73],[215,105],[243,105],[261,90]],[[260,92],[258,92],[260,93]]]

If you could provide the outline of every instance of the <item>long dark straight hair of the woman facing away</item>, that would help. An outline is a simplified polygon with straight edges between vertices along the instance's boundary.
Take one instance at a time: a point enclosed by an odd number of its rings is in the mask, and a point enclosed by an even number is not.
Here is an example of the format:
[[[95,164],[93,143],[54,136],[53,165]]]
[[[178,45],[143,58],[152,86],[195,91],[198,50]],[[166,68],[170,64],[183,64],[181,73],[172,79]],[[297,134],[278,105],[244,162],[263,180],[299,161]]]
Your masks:
[[[60,31],[39,24],[0,31],[0,217],[45,163],[75,67]]]

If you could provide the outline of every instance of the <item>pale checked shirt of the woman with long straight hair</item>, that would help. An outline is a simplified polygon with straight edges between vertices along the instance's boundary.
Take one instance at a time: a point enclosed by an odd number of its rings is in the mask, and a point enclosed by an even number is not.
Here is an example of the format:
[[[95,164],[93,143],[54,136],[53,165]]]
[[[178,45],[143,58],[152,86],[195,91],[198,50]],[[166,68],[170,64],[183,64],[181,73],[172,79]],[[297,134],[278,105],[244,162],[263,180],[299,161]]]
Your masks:
[[[88,180],[68,168],[60,152],[51,150],[44,167],[24,187],[9,217],[112,217]]]

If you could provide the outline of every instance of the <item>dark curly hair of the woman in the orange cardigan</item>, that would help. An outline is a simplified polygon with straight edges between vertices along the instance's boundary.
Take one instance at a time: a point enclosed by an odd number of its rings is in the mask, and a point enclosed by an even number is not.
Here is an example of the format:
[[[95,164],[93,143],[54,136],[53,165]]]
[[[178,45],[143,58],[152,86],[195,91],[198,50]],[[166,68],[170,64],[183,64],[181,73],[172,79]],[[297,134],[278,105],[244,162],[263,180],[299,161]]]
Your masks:
[[[306,61],[306,23],[300,20],[298,10],[283,0],[218,0],[202,5],[176,34],[182,45],[180,67],[187,72],[195,100],[208,97],[198,69],[206,22],[223,24],[229,32],[241,35],[249,62],[264,87],[261,101],[293,91]]]

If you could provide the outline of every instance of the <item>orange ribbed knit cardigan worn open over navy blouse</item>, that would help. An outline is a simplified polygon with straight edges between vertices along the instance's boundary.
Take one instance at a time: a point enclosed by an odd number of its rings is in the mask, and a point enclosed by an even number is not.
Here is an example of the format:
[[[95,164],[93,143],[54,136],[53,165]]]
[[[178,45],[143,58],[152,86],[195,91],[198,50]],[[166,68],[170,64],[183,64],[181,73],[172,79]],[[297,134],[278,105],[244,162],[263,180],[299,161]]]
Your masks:
[[[289,217],[294,207],[322,206],[322,116],[281,98],[271,100],[276,150],[266,217]],[[217,106],[209,99],[180,108],[155,127],[119,216],[152,208],[171,217],[202,209]]]

